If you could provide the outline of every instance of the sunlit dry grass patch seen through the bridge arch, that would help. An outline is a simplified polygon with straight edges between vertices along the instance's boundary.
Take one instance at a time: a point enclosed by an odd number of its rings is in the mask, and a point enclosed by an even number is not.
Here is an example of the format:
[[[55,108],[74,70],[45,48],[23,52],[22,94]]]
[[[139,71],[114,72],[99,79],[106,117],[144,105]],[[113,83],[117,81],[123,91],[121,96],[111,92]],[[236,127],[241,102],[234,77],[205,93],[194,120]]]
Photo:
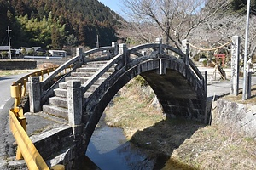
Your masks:
[[[153,106],[148,104],[150,99],[137,95],[142,93],[140,86],[134,87],[130,88],[131,90],[123,88],[119,97],[113,99],[114,106],[108,107],[106,110],[105,120],[108,126],[122,127],[127,139],[131,139],[137,130],[143,130],[165,119],[160,110],[154,110]]]

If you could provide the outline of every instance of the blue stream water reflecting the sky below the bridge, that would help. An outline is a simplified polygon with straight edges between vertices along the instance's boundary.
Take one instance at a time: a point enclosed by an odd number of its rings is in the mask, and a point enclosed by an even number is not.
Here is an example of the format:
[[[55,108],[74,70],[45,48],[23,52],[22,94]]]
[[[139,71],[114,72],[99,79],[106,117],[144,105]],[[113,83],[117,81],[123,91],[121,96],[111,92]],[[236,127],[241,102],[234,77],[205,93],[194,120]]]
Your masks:
[[[86,156],[100,169],[152,169],[154,160],[127,142],[122,129],[103,126],[90,139]]]

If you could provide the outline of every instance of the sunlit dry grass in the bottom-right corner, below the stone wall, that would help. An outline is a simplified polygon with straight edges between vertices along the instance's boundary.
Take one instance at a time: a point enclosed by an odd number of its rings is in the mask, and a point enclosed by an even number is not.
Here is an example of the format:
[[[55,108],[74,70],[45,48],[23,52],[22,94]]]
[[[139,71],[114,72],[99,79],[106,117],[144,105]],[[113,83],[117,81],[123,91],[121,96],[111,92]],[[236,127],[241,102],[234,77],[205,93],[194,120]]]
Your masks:
[[[227,127],[207,126],[186,139],[172,156],[199,169],[255,169],[256,142]]]

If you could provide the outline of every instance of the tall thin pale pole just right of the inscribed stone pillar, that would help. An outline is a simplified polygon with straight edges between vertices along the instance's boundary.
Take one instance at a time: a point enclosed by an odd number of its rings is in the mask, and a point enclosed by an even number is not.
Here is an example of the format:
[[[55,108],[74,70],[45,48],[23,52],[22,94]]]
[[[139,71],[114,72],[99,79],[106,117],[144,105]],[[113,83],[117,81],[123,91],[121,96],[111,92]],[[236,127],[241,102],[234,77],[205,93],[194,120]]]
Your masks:
[[[247,0],[247,25],[246,25],[246,39],[244,45],[244,58],[243,58],[243,86],[242,86],[242,100],[247,100],[247,48],[248,48],[248,31],[249,31],[249,15],[250,15],[251,1]]]

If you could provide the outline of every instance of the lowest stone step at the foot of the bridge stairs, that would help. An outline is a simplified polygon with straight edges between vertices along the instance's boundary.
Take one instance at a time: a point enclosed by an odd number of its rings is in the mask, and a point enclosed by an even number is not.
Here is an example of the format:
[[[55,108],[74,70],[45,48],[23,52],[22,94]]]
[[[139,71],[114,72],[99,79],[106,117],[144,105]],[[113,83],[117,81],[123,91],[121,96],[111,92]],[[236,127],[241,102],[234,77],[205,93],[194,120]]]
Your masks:
[[[66,108],[58,107],[55,105],[43,105],[43,111],[49,115],[58,116],[68,120],[68,111]]]

